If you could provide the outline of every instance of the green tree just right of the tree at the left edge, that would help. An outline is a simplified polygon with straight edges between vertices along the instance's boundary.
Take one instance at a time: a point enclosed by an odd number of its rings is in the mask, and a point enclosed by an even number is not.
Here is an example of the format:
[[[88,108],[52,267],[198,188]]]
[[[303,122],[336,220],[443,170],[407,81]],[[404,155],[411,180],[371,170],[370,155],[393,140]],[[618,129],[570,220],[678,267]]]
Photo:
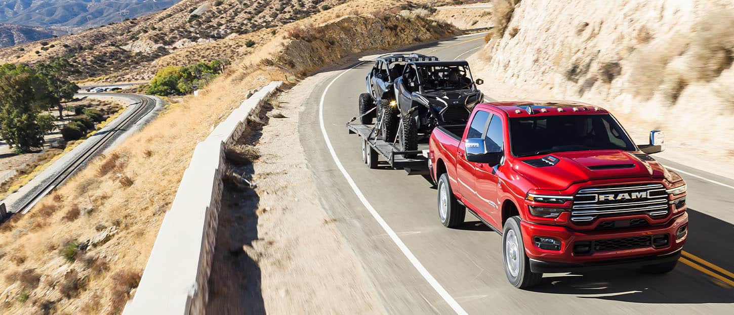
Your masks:
[[[64,100],[71,100],[74,93],[79,91],[79,86],[68,80],[68,71],[71,63],[67,59],[57,58],[35,66],[38,77],[46,84],[49,106],[59,110],[59,119],[64,121]]]

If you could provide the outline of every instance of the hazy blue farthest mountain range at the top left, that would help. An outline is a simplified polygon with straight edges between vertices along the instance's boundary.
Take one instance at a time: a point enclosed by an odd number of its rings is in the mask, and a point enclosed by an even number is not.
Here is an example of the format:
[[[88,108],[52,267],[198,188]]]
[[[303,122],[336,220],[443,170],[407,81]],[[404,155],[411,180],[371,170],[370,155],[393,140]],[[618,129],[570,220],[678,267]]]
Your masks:
[[[0,22],[90,29],[167,9],[180,0],[0,0]]]

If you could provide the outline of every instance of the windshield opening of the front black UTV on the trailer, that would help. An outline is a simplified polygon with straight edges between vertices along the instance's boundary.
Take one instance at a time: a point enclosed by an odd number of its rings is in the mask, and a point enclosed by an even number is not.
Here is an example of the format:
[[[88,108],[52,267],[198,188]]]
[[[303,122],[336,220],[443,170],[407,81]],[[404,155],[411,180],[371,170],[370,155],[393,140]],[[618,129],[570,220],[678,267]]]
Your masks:
[[[467,66],[421,66],[418,75],[426,91],[469,89],[473,85]]]

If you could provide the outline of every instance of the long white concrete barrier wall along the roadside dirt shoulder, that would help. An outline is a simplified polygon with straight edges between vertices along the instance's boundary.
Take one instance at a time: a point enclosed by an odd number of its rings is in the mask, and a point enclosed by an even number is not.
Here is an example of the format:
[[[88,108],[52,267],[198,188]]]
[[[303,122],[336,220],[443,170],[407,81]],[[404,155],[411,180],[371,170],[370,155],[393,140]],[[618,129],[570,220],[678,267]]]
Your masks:
[[[135,297],[123,314],[204,313],[222,199],[224,150],[241,136],[252,110],[281,84],[271,82],[244,100],[197,144],[161,223]]]

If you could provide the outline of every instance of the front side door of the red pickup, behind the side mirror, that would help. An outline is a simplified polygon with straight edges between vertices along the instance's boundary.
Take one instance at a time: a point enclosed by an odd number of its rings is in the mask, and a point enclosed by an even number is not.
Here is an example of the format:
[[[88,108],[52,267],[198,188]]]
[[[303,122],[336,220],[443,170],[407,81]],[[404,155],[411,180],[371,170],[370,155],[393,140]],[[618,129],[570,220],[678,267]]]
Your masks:
[[[490,125],[487,127],[487,133],[484,134],[484,146],[487,152],[498,152],[504,148],[504,125],[502,119],[498,115],[493,115],[490,119]],[[502,220],[501,203],[498,200],[498,168],[499,165],[489,165],[487,163],[476,163],[476,171],[474,172],[474,189],[477,197],[484,207],[480,213],[485,220],[492,223],[495,227],[501,228],[499,223]]]

